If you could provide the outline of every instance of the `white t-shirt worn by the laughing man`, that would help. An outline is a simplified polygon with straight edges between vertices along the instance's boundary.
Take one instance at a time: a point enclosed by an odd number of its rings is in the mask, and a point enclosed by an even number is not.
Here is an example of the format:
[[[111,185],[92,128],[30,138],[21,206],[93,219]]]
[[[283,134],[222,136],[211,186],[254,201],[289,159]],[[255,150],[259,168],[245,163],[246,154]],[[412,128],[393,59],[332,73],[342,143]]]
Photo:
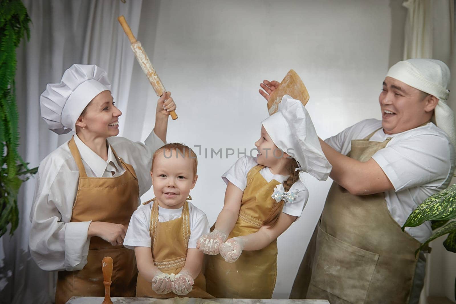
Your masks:
[[[352,139],[363,139],[381,127],[381,120],[366,119],[325,142],[347,155]],[[433,123],[398,134],[385,134],[379,129],[369,140],[384,141],[388,137],[392,139],[387,146],[372,158],[394,186],[394,190],[385,192],[385,198],[391,216],[402,227],[426,198],[446,189],[453,175],[455,149],[446,133]],[[430,221],[406,227],[405,231],[420,242],[432,234]]]

